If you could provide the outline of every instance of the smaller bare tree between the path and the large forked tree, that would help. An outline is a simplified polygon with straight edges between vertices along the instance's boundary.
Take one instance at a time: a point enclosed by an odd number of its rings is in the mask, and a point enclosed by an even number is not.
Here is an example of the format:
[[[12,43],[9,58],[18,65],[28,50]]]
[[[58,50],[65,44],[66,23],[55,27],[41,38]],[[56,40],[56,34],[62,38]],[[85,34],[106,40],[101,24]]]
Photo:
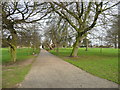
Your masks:
[[[59,52],[60,46],[66,46],[68,43],[69,33],[68,33],[68,23],[62,20],[61,17],[58,17],[58,20],[50,24],[50,27],[45,32],[46,38],[50,40],[50,44],[56,47],[56,51]],[[51,47],[50,47],[51,48]]]

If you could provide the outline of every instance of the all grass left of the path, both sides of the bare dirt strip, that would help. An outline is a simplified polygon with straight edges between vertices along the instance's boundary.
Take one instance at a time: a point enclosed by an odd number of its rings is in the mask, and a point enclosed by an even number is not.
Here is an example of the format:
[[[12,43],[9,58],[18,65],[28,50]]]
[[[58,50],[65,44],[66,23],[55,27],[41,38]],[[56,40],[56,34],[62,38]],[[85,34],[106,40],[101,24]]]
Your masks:
[[[17,49],[17,62],[25,61],[30,58],[35,58],[36,56],[32,55],[32,48],[21,48]],[[39,53],[38,50],[35,51]],[[16,84],[24,80],[25,75],[29,72],[31,64],[26,65],[12,65],[11,56],[8,48],[2,48],[2,64],[10,66],[2,67],[2,88],[13,88],[16,87]]]

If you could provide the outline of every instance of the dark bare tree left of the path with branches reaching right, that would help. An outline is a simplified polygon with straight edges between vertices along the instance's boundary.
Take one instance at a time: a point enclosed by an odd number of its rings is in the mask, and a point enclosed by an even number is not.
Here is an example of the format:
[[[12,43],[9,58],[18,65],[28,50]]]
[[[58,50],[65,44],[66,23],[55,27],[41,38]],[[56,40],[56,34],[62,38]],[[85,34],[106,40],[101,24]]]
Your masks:
[[[17,31],[16,24],[33,23],[48,15],[47,3],[37,2],[3,2],[2,28],[10,31],[9,42],[12,59],[16,61]],[[48,11],[48,12],[47,12]],[[41,14],[40,14],[41,13]],[[37,15],[39,17],[35,18]],[[10,37],[12,37],[10,39]]]

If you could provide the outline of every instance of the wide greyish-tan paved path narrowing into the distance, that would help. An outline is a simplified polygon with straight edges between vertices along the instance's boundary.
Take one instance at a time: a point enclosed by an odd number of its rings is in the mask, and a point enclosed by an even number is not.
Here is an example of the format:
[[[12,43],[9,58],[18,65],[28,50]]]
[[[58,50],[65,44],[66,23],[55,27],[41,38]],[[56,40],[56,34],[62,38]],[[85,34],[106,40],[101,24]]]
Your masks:
[[[118,85],[41,50],[19,88],[118,88]]]

